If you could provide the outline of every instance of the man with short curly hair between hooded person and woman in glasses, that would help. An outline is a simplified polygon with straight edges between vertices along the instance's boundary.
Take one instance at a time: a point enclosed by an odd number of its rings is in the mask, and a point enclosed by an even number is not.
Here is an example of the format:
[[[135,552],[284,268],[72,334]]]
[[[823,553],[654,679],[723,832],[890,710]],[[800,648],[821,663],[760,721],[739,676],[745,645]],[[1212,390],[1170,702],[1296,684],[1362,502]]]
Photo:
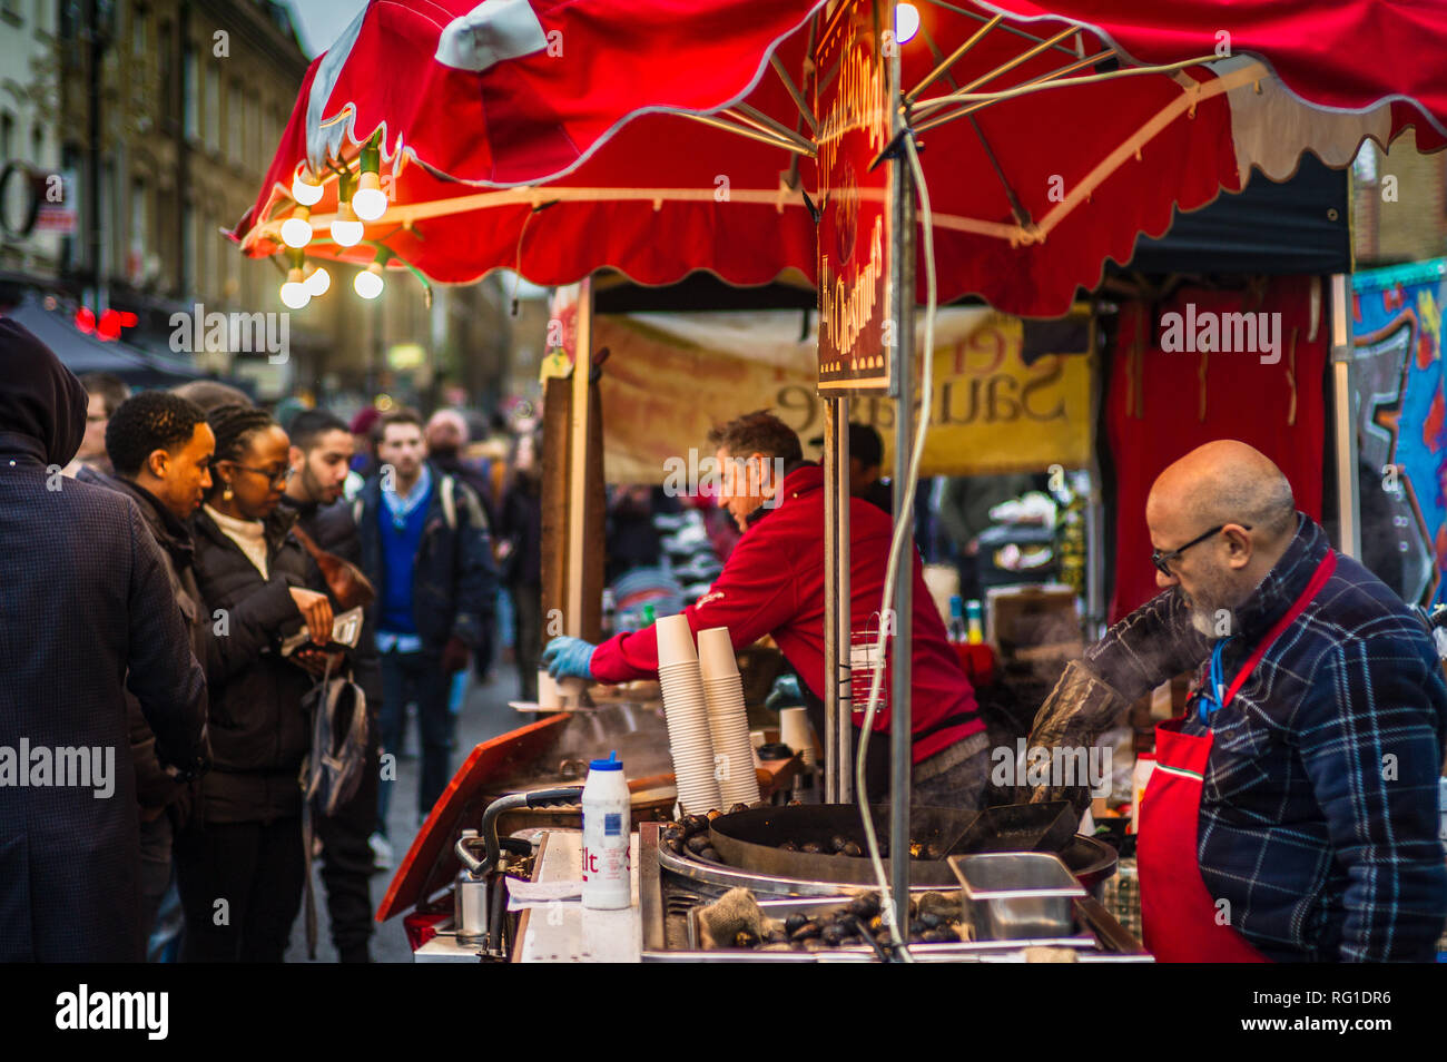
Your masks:
[[[216,437],[198,407],[165,391],[143,391],[126,399],[106,425],[106,453],[116,472],[101,485],[129,495],[161,547],[177,611],[191,635],[191,651],[205,660],[211,621],[191,570],[191,515],[211,486]],[[77,479],[101,479],[82,469]],[[130,719],[130,761],[140,800],[142,929],[149,935],[161,900],[171,887],[171,844],[185,825],[191,786],[171,777],[156,758],[156,735],[140,703],[126,697]],[[210,741],[207,742],[210,757]]]

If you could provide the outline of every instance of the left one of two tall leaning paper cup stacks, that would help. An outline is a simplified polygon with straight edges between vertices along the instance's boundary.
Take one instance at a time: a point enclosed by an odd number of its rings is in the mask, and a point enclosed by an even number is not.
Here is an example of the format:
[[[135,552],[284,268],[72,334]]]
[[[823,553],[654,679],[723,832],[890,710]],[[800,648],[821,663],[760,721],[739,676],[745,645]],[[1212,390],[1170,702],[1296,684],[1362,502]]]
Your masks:
[[[655,624],[655,631],[658,684],[663,687],[663,715],[669,725],[679,804],[686,815],[702,815],[721,807],[724,797],[715,777],[709,708],[699,676],[699,655],[693,648],[693,631],[689,628],[689,618],[682,613],[664,616]]]

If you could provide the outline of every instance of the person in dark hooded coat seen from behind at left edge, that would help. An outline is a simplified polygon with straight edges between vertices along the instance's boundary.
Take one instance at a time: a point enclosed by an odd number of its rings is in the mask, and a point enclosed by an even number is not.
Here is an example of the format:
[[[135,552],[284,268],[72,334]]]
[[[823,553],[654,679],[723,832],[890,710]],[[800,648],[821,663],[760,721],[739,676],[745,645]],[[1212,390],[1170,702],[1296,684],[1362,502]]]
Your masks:
[[[135,962],[124,690],[161,762],[198,771],[205,680],[136,504],[61,476],[84,388],[3,317],[0,379],[0,962]]]

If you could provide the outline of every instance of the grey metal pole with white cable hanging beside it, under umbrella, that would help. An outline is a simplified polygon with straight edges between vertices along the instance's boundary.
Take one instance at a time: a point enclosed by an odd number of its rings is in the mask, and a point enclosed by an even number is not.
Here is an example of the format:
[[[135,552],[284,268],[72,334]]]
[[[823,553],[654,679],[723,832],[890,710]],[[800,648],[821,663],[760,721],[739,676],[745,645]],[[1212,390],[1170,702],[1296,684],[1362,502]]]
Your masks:
[[[891,100],[900,93],[899,49],[890,58]],[[904,119],[896,107],[890,136]],[[909,903],[909,807],[913,726],[910,713],[910,631],[915,589],[915,514],[904,509],[909,456],[915,443],[915,181],[909,159],[890,162],[890,317],[894,321],[894,525],[907,528],[904,553],[894,583],[893,689],[890,690],[890,888],[896,914],[904,920]]]

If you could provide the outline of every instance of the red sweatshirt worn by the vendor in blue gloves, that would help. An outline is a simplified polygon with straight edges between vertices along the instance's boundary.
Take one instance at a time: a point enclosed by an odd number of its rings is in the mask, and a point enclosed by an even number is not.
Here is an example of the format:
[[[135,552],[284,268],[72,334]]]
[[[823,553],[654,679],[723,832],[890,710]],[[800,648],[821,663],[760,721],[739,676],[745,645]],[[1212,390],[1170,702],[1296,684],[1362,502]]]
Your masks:
[[[823,470],[805,464],[784,477],[776,509],[763,511],[729,554],[724,572],[697,605],[684,611],[695,637],[726,626],[739,650],[773,635],[784,657],[820,699],[823,676]],[[858,498],[849,499],[849,626],[878,626],[873,619],[884,595],[890,517]],[[910,550],[915,577],[913,718],[915,762],[984,729],[969,680],[945,637],[945,625],[925,587],[919,551]],[[645,679],[658,671],[654,628],[609,638],[592,660],[599,681]],[[886,674],[886,690],[890,677]],[[862,721],[861,710],[855,723]],[[887,731],[881,710],[875,731]]]

